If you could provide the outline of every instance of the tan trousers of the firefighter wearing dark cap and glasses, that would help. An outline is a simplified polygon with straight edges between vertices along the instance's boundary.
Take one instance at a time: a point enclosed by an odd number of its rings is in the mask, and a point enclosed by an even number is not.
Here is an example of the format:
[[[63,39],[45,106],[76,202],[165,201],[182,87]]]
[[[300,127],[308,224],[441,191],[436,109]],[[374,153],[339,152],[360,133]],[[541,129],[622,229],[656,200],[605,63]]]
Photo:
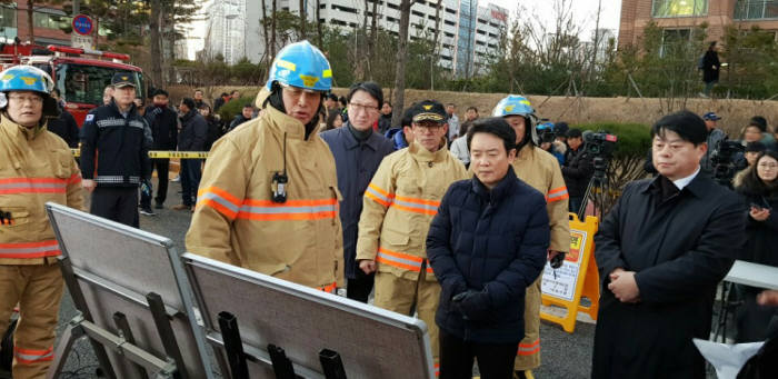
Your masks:
[[[435,311],[440,300],[440,285],[420,278],[418,281],[402,279],[390,272],[376,272],[376,298],[373,305],[393,312],[409,315],[416,299],[416,311],[427,325],[429,331],[435,369],[438,370],[438,325],[435,323]]]

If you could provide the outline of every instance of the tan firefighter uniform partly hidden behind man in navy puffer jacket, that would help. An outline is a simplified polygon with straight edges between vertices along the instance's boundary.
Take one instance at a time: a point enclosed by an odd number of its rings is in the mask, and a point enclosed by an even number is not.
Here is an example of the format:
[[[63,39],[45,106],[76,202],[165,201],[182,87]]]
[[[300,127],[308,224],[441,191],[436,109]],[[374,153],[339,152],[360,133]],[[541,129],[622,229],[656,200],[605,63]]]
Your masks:
[[[513,161],[519,179],[546,196],[546,209],[551,227],[549,250],[570,251],[568,193],[559,161],[542,149],[526,144]],[[515,369],[540,367],[540,285],[542,275],[527,288],[525,297],[525,338],[519,343]]]

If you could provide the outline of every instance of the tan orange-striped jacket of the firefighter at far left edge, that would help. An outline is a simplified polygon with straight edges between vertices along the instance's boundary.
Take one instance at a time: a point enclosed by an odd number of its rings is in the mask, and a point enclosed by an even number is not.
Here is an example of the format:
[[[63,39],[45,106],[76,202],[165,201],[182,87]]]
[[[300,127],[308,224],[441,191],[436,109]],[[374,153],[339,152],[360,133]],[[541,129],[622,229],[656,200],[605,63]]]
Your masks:
[[[0,265],[43,265],[60,255],[43,205],[83,209],[81,173],[68,144],[46,126],[0,116]]]

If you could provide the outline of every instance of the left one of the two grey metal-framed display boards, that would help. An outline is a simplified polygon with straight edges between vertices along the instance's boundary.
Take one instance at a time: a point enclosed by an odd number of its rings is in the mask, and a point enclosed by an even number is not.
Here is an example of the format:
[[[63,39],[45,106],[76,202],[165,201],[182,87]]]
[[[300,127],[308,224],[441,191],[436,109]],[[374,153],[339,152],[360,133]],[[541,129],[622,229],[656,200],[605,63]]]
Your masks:
[[[206,338],[196,319],[193,295],[179,253],[170,239],[63,206],[47,203],[50,221],[70,265],[83,303],[98,327],[119,335],[116,312],[127,317],[134,345],[166,359],[166,350],[149,311],[147,295],[158,293],[178,342],[189,378],[212,378]],[[178,277],[183,277],[177,280]],[[109,347],[107,347],[109,348]],[[119,378],[139,378],[133,365],[108,350]],[[151,372],[149,372],[151,373]]]

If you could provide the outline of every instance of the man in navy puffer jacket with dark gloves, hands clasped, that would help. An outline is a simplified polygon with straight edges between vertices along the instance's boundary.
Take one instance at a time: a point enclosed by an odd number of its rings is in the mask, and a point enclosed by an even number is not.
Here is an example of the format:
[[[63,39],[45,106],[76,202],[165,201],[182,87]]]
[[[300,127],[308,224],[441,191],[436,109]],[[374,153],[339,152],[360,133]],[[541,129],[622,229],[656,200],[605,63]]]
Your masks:
[[[510,378],[525,337],[525,289],[546,263],[543,196],[516,177],[516,132],[502,118],[467,134],[475,177],[448,189],[427,236],[440,282],[440,377]]]

